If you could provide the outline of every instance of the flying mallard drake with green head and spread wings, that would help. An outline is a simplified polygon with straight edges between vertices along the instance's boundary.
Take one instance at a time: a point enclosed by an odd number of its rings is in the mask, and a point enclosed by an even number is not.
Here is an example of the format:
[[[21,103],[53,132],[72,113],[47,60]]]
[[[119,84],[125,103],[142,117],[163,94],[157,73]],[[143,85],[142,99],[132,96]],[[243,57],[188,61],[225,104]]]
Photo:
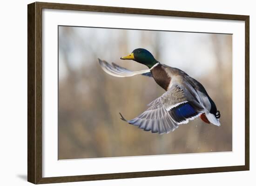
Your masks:
[[[205,123],[220,126],[220,112],[201,83],[184,71],[161,64],[146,49],[135,49],[123,60],[134,60],[148,67],[147,70],[130,71],[115,63],[99,59],[101,68],[115,77],[131,77],[138,74],[153,77],[155,82],[166,92],[149,103],[149,108],[141,115],[125,122],[138,126],[152,133],[168,133],[179,125],[200,117]]]

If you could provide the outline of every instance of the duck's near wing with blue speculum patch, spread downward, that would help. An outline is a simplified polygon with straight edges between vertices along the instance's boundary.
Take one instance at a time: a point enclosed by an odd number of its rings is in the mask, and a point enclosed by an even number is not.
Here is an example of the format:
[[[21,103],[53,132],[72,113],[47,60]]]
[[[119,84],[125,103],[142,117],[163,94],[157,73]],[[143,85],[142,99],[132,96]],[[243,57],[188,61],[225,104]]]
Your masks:
[[[190,90],[191,91],[191,90]],[[174,84],[161,97],[149,103],[141,115],[132,120],[121,119],[152,133],[169,133],[203,113],[203,108],[184,86]]]

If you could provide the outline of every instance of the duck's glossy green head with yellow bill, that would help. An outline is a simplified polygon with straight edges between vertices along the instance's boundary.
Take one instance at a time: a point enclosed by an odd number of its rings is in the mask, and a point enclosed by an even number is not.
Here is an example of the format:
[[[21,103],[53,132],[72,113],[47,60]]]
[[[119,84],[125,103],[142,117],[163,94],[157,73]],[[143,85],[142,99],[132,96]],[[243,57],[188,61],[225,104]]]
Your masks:
[[[121,57],[121,59],[132,59],[138,63],[145,64],[148,68],[154,66],[158,61],[155,60],[154,56],[143,48],[137,48],[132,51],[128,56]]]

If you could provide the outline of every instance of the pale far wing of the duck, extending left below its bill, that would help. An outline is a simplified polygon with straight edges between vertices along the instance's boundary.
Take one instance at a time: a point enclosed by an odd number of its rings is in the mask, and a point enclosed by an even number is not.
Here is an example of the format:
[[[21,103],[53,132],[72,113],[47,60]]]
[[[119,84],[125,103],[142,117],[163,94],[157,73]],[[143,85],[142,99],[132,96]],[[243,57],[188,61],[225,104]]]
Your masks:
[[[150,70],[141,70],[141,71],[130,71],[126,68],[123,68],[115,63],[109,64],[108,62],[99,59],[99,63],[101,65],[101,68],[103,71],[108,73],[109,75],[115,76],[115,77],[131,77],[138,74],[141,74],[143,76],[152,77],[152,74]]]

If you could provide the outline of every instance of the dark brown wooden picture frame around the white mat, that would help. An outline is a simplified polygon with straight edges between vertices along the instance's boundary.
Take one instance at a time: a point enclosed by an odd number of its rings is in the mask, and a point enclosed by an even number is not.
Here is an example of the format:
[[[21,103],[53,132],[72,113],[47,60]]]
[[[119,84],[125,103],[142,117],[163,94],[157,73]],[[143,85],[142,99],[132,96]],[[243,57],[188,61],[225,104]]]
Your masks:
[[[42,177],[42,9],[75,10],[103,13],[128,13],[204,19],[241,20],[245,22],[245,165],[160,170],[130,173],[107,173],[62,177]],[[249,16],[218,13],[196,13],[168,10],[89,6],[34,2],[27,6],[27,180],[34,184],[216,173],[249,170]]]

